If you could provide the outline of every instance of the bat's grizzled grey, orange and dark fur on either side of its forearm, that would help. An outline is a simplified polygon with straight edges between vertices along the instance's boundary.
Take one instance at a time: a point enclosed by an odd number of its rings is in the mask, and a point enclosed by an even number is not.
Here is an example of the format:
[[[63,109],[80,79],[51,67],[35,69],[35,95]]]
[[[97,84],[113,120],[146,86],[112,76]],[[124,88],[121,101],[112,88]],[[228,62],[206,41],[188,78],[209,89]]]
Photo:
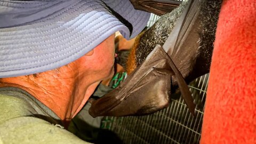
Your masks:
[[[183,61],[187,61],[187,68],[184,73],[182,73],[183,71],[181,70],[181,74],[185,77],[185,81],[187,83],[193,81],[198,76],[209,73],[215,30],[217,27],[221,3],[221,0],[200,0],[199,2],[200,5],[198,9],[200,9],[200,12],[198,16],[199,27],[197,28],[198,38],[195,37],[197,39],[193,39],[194,41],[197,41],[198,48],[190,50],[195,53],[193,57],[190,59],[183,59]],[[129,55],[126,64],[128,74],[147,58],[147,55],[154,49],[156,44],[163,45],[165,43],[186,5],[187,2],[183,2],[172,12],[162,15],[162,17],[159,18],[151,28],[138,37],[139,40],[136,42],[139,44],[134,44],[134,47],[131,50],[134,52]],[[175,57],[178,57],[178,55],[175,55]],[[177,67],[178,69],[181,69],[179,66]],[[174,81],[173,89],[177,88],[177,84],[175,84]]]

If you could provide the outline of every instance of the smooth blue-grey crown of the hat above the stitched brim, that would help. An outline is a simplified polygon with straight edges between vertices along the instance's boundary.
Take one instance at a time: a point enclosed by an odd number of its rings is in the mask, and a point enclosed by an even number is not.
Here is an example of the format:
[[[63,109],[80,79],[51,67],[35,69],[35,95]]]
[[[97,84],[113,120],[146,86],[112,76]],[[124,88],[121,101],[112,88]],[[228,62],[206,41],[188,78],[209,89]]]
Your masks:
[[[70,1],[1,1],[0,28],[22,26],[42,21],[60,10],[76,4]]]

